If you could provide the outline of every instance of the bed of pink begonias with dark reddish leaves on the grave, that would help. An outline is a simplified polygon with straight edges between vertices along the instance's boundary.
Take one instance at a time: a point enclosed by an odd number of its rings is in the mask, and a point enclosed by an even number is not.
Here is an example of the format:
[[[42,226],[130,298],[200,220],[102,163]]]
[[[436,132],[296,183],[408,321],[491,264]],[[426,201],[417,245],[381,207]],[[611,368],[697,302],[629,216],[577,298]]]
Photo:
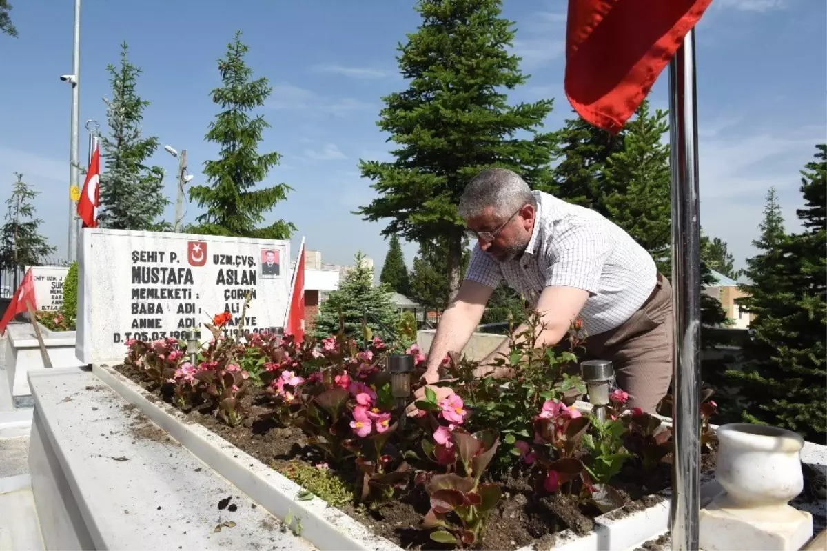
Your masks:
[[[168,339],[128,343],[117,370],[403,548],[550,543],[564,529],[590,532],[602,513],[653,505],[669,486],[671,432],[659,419],[620,414],[619,390],[606,423],[573,407],[584,389],[565,371],[580,338],[568,352],[513,343],[500,361],[514,371],[507,384],[449,357],[450,386],[414,382],[411,405],[394,400],[384,369],[403,351],[379,338],[362,348],[342,335],[318,348],[268,334],[238,342],[223,337],[226,322],[209,326],[197,366]],[[416,381],[424,357],[405,352]],[[713,412],[705,402],[705,467],[715,461]]]

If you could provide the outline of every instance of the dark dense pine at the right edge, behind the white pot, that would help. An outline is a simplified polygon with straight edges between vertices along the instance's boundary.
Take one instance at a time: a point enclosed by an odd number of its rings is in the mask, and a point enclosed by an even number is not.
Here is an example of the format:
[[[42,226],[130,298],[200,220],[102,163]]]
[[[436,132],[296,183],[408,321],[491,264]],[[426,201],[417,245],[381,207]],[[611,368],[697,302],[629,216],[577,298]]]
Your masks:
[[[796,211],[805,232],[779,240],[780,215],[767,214],[762,241],[772,248],[748,261],[748,275],[755,277],[748,287],[753,295],[745,301],[755,316],[749,350],[754,362],[740,381],[748,400],[744,419],[795,430],[808,440],[825,443],[827,146],[816,147],[815,161],[801,173],[805,208]]]

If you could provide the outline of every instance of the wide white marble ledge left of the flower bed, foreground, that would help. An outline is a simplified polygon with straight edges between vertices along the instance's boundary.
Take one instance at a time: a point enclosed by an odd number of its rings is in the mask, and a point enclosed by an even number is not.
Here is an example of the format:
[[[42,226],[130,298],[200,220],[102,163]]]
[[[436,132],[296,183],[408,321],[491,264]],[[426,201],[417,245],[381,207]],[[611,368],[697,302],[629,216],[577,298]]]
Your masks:
[[[90,371],[30,380],[31,479],[46,549],[313,549]],[[218,509],[227,496],[236,511]],[[215,531],[229,520],[236,525]],[[67,534],[79,525],[85,539]]]

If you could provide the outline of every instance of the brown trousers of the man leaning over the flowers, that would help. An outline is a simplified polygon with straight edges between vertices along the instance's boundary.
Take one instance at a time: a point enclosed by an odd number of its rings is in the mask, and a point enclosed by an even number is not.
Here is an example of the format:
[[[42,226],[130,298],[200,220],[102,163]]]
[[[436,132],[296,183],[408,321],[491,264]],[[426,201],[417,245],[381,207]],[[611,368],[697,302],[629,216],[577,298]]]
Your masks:
[[[654,413],[672,382],[672,285],[657,275],[653,294],[626,323],[586,337],[586,358],[609,360],[629,407]]]

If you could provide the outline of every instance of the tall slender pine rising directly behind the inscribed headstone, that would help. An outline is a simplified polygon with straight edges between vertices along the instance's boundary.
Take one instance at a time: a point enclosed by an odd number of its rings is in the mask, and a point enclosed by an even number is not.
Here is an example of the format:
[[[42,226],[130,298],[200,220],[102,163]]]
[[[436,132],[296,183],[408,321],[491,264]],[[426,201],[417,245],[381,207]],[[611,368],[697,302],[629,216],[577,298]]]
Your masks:
[[[244,62],[249,48],[241,43],[241,31],[227,44],[227,57],[218,60],[223,87],[213,89],[213,102],[221,106],[215,122],[210,124],[207,140],[221,146],[218,161],[206,161],[204,174],[208,185],[189,189],[189,198],[207,211],[198,216],[198,225],[188,231],[212,235],[288,239],[296,227],[276,220],[265,228],[256,228],[276,204],[292,191],[287,184],[256,189],[270,168],[278,165],[277,152],[259,154],[261,134],[270,124],[263,116],[251,116],[261,108],[272,88],[265,77],[253,79],[253,71]]]

